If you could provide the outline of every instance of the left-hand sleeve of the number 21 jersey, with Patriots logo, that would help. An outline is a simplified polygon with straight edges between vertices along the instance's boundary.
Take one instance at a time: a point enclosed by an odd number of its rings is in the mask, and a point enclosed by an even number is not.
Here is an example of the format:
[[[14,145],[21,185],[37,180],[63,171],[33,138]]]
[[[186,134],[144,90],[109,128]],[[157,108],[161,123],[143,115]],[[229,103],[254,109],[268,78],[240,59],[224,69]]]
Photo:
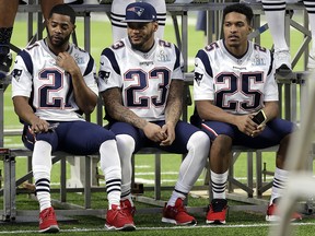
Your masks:
[[[31,96],[33,84],[32,70],[33,63],[30,54],[25,50],[21,51],[15,58],[15,63],[11,72],[12,97]]]

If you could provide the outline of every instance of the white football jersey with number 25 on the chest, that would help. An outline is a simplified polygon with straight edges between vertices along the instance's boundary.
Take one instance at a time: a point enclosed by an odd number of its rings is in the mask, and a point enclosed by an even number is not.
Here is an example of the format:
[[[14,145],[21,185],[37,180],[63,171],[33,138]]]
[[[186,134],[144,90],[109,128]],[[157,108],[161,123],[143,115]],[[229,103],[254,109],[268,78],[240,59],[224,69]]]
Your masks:
[[[248,42],[242,58],[231,55],[223,39],[199,50],[195,59],[194,99],[213,101],[232,114],[249,114],[264,102],[278,101],[270,50]]]

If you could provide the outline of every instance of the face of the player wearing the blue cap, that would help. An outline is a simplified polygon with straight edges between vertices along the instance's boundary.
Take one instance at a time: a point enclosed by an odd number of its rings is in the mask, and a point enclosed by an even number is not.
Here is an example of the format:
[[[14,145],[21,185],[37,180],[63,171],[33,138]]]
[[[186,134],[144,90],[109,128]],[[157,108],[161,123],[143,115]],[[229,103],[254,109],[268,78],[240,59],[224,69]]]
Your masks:
[[[154,44],[154,32],[158,30],[158,23],[128,23],[128,38],[132,48],[140,51],[148,51]]]

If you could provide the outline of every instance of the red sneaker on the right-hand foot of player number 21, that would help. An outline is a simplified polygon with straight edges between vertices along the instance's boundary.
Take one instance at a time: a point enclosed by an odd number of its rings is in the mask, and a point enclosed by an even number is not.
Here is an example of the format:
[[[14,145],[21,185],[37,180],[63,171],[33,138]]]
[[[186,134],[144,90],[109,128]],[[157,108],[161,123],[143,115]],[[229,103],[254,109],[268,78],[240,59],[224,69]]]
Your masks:
[[[135,231],[132,215],[127,211],[122,211],[118,205],[112,205],[110,210],[107,210],[105,227],[108,231]]]

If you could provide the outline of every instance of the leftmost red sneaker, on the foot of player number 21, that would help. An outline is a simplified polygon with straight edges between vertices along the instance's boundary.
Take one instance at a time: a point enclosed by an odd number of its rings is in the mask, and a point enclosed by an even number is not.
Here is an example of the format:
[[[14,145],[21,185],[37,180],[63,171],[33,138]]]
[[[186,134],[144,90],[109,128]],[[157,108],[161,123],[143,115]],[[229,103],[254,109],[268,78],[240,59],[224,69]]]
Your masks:
[[[39,213],[39,232],[58,233],[59,227],[56,221],[54,208],[47,208]]]

